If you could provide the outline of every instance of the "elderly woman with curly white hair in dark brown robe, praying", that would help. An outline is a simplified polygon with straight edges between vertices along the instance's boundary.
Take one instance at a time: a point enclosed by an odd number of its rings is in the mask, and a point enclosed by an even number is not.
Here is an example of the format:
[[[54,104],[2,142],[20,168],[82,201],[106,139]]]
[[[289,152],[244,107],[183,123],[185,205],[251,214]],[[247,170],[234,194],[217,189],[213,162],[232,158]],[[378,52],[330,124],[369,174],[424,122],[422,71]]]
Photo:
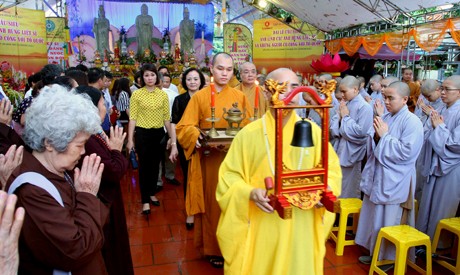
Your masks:
[[[96,197],[104,165],[92,154],[75,168],[100,123],[89,99],[56,86],[27,110],[23,138],[32,152],[24,151],[7,184],[26,211],[19,274],[107,274],[101,247],[108,208]]]

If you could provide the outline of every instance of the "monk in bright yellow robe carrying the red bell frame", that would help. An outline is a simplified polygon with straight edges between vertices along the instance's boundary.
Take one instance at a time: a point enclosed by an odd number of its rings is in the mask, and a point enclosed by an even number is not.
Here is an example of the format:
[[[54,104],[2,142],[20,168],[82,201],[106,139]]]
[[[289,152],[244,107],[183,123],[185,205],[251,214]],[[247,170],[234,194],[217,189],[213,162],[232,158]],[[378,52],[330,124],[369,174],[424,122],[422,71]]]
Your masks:
[[[289,69],[275,70],[267,78],[289,81],[280,99],[299,85]],[[271,94],[266,93],[269,99]],[[298,104],[299,96],[291,102]],[[292,170],[321,162],[321,129],[315,123],[311,123],[314,147],[290,146],[298,120],[291,111],[283,121],[283,162]],[[330,144],[328,164],[329,188],[339,196],[342,174]],[[274,177],[274,165],[275,120],[268,111],[236,135],[220,166],[216,199],[222,214],[217,238],[225,274],[323,274],[325,242],[335,214],[318,205],[309,210],[292,207],[292,218],[281,219],[268,203],[264,186],[265,177]]]

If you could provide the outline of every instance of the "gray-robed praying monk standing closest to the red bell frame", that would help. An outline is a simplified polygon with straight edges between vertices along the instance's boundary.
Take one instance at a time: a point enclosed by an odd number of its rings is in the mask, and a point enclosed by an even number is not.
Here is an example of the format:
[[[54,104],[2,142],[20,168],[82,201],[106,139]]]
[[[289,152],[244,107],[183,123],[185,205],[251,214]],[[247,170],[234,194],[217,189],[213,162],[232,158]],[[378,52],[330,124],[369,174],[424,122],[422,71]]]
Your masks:
[[[372,129],[372,107],[359,94],[359,81],[346,76],[337,119],[331,122],[331,136],[338,139],[337,155],[342,168],[342,198],[360,198],[361,161],[366,155],[367,137]]]

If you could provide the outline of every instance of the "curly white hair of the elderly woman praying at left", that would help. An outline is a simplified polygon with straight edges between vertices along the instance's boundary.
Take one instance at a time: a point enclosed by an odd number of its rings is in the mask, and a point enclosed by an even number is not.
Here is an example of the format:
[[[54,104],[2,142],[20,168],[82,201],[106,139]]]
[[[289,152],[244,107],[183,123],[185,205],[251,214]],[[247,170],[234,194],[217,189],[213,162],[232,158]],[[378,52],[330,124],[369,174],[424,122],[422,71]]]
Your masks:
[[[88,97],[58,85],[38,95],[26,111],[24,142],[43,152],[47,141],[58,152],[80,133],[96,134],[101,129],[99,111]]]

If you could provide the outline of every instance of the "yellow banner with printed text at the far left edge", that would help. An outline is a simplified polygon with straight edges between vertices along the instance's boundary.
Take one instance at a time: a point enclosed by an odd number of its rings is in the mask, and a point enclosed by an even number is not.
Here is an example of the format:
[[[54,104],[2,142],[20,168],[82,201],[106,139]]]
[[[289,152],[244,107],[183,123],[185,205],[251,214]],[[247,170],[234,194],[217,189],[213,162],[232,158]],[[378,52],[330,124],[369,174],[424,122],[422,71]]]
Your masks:
[[[43,11],[12,8],[0,12],[0,61],[27,74],[47,63]]]

